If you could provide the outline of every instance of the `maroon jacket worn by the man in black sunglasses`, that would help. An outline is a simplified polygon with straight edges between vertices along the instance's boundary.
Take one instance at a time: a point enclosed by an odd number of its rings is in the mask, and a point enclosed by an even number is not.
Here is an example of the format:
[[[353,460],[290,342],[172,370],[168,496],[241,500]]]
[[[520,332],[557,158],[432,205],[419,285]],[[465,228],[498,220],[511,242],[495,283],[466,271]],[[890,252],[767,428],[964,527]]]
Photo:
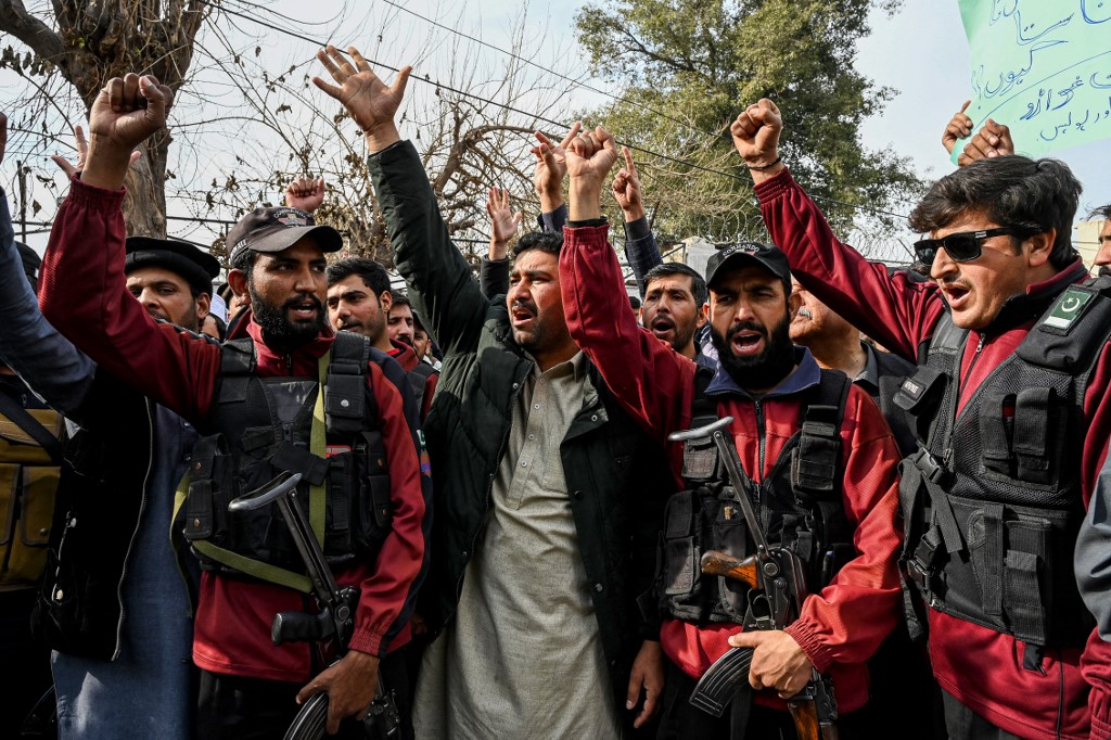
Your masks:
[[[937,286],[911,282],[898,273],[891,278],[884,266],[869,262],[841,243],[790,172],[762,182],[755,192],[772,241],[787,252],[802,284],[883,347],[913,361],[944,311]],[[1028,287],[1027,292],[1052,290],[1085,277],[1078,260],[1048,283]],[[985,333],[975,362],[981,336],[972,332],[962,357],[958,413],[1032,326],[1031,321]],[[1089,424],[1081,470],[1084,506],[1111,436],[1109,380],[1111,352],[1104,349],[1084,398]],[[1059,722],[1063,738],[1088,738],[1089,726],[1092,738],[1111,737],[1111,646],[1094,631],[1082,652],[1048,651],[1044,672],[1038,672],[1023,668],[1025,646],[1008,634],[933,610],[929,619],[930,659],[938,682],[977,713],[1023,738],[1055,738]],[[1059,706],[1063,708],[1060,717]]]

